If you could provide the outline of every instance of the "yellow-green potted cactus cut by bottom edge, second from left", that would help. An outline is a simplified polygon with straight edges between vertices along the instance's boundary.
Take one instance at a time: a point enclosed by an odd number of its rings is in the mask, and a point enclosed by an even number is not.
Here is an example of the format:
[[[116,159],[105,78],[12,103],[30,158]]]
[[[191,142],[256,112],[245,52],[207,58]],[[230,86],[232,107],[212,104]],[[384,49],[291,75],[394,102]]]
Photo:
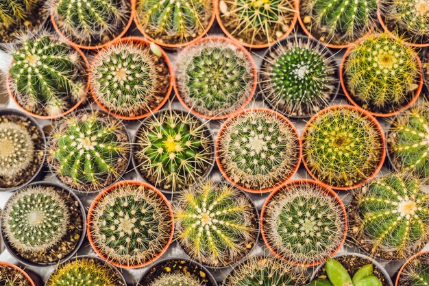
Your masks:
[[[79,256],[58,265],[45,286],[126,286],[116,267],[103,259]]]

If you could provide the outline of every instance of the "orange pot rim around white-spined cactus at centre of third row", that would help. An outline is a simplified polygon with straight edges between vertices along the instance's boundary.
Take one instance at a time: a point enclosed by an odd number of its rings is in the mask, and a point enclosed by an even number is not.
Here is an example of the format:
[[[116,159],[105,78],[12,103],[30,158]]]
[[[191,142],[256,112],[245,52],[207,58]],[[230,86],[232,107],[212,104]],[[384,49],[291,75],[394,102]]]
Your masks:
[[[232,180],[232,178],[225,171],[224,164],[221,162],[222,154],[221,154],[221,151],[219,150],[220,149],[219,146],[221,145],[221,137],[223,136],[225,129],[228,128],[228,125],[234,123],[234,120],[237,119],[237,117],[240,117],[241,115],[245,115],[246,113],[255,112],[255,111],[256,112],[267,112],[269,115],[273,115],[275,117],[278,117],[278,119],[280,119],[280,121],[282,121],[287,126],[289,126],[289,128],[291,128],[293,134],[295,135],[295,137],[297,139],[297,145],[298,145],[298,150],[297,150],[297,154],[296,154],[297,160],[296,160],[295,165],[291,169],[291,172],[289,174],[285,174],[284,178],[282,178],[282,180],[279,180],[273,187],[269,187],[266,189],[250,189],[250,188],[245,187],[245,186],[235,182],[234,180]],[[219,170],[221,171],[223,177],[226,180],[228,180],[228,182],[233,184],[235,187],[238,187],[238,189],[242,189],[243,191],[248,191],[249,193],[268,193],[268,192],[276,191],[276,190],[280,189],[298,171],[299,165],[301,163],[301,157],[302,157],[302,143],[301,143],[301,139],[299,139],[299,134],[298,134],[298,131],[295,128],[295,126],[293,126],[293,124],[291,123],[291,121],[289,121],[289,119],[287,119],[286,117],[284,117],[280,113],[275,112],[275,111],[270,110],[270,109],[267,109],[267,108],[249,108],[246,110],[235,112],[233,115],[231,115],[225,121],[225,123],[223,123],[223,125],[221,126],[219,133],[217,135],[217,139],[216,139],[216,163],[217,163],[217,167],[219,167]]]

